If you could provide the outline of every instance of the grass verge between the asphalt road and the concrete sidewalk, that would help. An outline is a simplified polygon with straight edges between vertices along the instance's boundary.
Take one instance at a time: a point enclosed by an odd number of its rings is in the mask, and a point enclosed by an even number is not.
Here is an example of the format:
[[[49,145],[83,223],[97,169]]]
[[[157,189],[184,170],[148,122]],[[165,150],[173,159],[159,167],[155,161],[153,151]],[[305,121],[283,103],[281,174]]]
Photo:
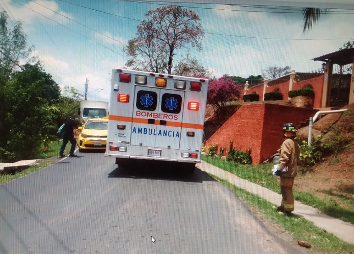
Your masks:
[[[289,234],[295,240],[309,242],[312,245],[312,251],[317,253],[353,253],[353,244],[344,242],[333,234],[317,228],[311,221],[303,218],[289,218],[279,215],[275,209],[271,208],[274,204],[225,180],[221,180],[215,176],[212,177],[230,188],[251,210],[256,209],[266,220],[281,225],[285,231],[290,232]]]

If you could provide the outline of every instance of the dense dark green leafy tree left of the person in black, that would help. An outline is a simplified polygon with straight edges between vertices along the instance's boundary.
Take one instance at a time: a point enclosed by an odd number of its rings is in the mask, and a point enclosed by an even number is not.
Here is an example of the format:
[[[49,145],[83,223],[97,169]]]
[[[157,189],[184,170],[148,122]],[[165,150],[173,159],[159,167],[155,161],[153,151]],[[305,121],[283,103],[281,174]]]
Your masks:
[[[48,84],[49,83],[49,84]],[[2,85],[0,109],[0,158],[18,160],[33,158],[49,142],[55,128],[57,108],[48,100],[55,99],[48,91],[57,84],[39,63],[25,64]],[[48,90],[52,87],[52,90]]]

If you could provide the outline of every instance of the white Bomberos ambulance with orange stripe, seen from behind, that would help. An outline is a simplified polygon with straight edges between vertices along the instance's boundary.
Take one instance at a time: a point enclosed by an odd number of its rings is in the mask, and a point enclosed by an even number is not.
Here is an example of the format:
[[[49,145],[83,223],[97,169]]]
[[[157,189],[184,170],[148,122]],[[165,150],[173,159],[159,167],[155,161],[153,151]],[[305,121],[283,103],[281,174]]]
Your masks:
[[[104,156],[119,166],[132,160],[201,162],[208,79],[113,69]]]

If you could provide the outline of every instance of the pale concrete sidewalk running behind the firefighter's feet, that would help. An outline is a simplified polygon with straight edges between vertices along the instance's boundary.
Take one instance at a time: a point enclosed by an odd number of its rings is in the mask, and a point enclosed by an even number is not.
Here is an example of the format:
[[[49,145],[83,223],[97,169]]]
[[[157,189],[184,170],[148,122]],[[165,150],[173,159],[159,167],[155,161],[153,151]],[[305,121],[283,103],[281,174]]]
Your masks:
[[[221,170],[220,168],[210,165],[204,161],[197,164],[197,167],[200,168],[201,171],[217,176],[239,188],[256,194],[276,206],[280,204],[282,199],[281,194],[239,178],[232,173]],[[295,212],[296,214],[304,216],[305,219],[312,221],[317,227],[334,234],[348,243],[354,244],[354,225],[351,223],[328,216],[311,206],[304,205],[297,201],[295,201]]]

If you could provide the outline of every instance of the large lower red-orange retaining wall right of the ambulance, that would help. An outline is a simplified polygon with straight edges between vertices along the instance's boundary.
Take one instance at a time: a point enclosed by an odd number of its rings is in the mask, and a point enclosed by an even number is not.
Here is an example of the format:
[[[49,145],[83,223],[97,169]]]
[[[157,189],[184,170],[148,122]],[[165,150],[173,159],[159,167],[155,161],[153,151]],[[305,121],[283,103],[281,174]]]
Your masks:
[[[259,164],[279,149],[283,142],[283,124],[292,122],[298,127],[316,112],[316,109],[270,103],[244,105],[206,141],[205,146],[218,144],[219,150],[226,148],[227,155],[233,139],[234,148],[243,151],[251,148],[252,163]]]

